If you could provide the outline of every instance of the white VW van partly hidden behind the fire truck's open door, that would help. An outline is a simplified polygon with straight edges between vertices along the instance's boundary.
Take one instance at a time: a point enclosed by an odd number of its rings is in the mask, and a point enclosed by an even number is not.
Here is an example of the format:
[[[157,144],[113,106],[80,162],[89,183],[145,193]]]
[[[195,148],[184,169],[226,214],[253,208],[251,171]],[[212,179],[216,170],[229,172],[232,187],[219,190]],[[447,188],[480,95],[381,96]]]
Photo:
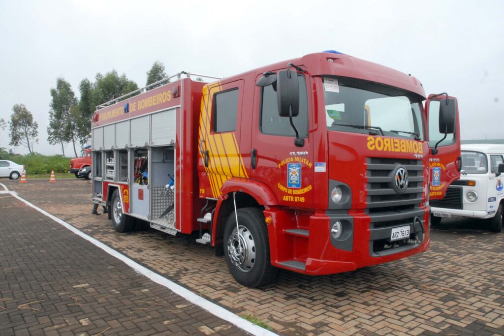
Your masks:
[[[431,200],[430,221],[437,225],[453,216],[487,219],[490,230],[502,231],[504,206],[504,145],[461,145],[460,180],[447,189],[445,198]]]

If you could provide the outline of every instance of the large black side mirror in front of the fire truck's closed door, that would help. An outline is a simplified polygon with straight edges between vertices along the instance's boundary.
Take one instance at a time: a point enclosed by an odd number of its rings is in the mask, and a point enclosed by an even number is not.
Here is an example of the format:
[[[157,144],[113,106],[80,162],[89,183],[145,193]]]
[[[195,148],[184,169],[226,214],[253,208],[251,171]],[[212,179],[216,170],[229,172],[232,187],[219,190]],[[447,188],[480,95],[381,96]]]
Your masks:
[[[281,70],[277,75],[278,114],[295,117],[299,114],[299,82],[295,70]]]

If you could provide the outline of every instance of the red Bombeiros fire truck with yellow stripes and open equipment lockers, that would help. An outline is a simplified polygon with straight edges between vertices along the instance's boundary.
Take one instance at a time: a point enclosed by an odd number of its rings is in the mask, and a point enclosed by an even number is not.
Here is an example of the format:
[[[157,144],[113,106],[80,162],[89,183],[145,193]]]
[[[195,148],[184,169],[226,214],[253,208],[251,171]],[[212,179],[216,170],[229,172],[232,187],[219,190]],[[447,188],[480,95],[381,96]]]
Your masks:
[[[92,200],[117,231],[199,234],[249,287],[428,249],[429,196],[460,177],[454,97],[333,50],[195,76],[97,107]]]

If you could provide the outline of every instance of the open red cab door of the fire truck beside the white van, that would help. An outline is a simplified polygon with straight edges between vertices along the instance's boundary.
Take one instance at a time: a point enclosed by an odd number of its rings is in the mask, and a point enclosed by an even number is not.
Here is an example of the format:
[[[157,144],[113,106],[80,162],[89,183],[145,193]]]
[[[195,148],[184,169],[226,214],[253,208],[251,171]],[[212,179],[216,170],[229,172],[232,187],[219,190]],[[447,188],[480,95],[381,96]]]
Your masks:
[[[446,94],[429,95],[425,102],[425,113],[429,125],[429,147],[433,154],[430,155],[430,199],[441,199],[445,196],[446,189],[455,180],[460,178],[460,123],[457,99],[448,96],[450,103],[455,104],[455,130],[445,137],[444,132],[439,131],[440,104],[445,103]],[[434,147],[437,148],[434,149]]]

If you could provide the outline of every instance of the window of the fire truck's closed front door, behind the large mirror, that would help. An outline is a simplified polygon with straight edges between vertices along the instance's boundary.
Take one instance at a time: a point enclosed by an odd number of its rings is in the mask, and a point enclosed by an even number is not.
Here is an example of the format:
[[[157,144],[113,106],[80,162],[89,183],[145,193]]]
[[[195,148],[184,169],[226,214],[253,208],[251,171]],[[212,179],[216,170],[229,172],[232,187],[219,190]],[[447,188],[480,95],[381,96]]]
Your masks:
[[[308,136],[308,98],[306,96],[306,81],[298,75],[299,80],[299,114],[292,118],[300,138]],[[296,133],[289,118],[278,115],[277,92],[273,85],[261,89],[261,117],[259,129],[265,134],[295,137]]]

